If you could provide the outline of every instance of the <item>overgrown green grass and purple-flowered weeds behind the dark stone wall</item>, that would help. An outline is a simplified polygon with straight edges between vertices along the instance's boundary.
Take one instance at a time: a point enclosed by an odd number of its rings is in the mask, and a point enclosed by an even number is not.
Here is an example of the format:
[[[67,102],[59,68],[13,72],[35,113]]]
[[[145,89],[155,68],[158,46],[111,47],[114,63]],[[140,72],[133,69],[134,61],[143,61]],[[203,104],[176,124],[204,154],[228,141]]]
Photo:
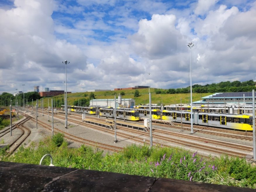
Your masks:
[[[62,136],[56,137],[59,139]],[[0,157],[3,161],[38,165],[47,153],[52,155],[55,166],[256,188],[256,168],[245,159],[225,155],[205,159],[197,152],[180,148],[131,145],[122,152],[103,155],[103,151],[84,145],[68,148],[66,141],[57,145],[54,139],[48,137],[37,146],[21,147],[11,157],[6,157],[1,151]],[[45,158],[43,164],[49,165],[50,159]]]

